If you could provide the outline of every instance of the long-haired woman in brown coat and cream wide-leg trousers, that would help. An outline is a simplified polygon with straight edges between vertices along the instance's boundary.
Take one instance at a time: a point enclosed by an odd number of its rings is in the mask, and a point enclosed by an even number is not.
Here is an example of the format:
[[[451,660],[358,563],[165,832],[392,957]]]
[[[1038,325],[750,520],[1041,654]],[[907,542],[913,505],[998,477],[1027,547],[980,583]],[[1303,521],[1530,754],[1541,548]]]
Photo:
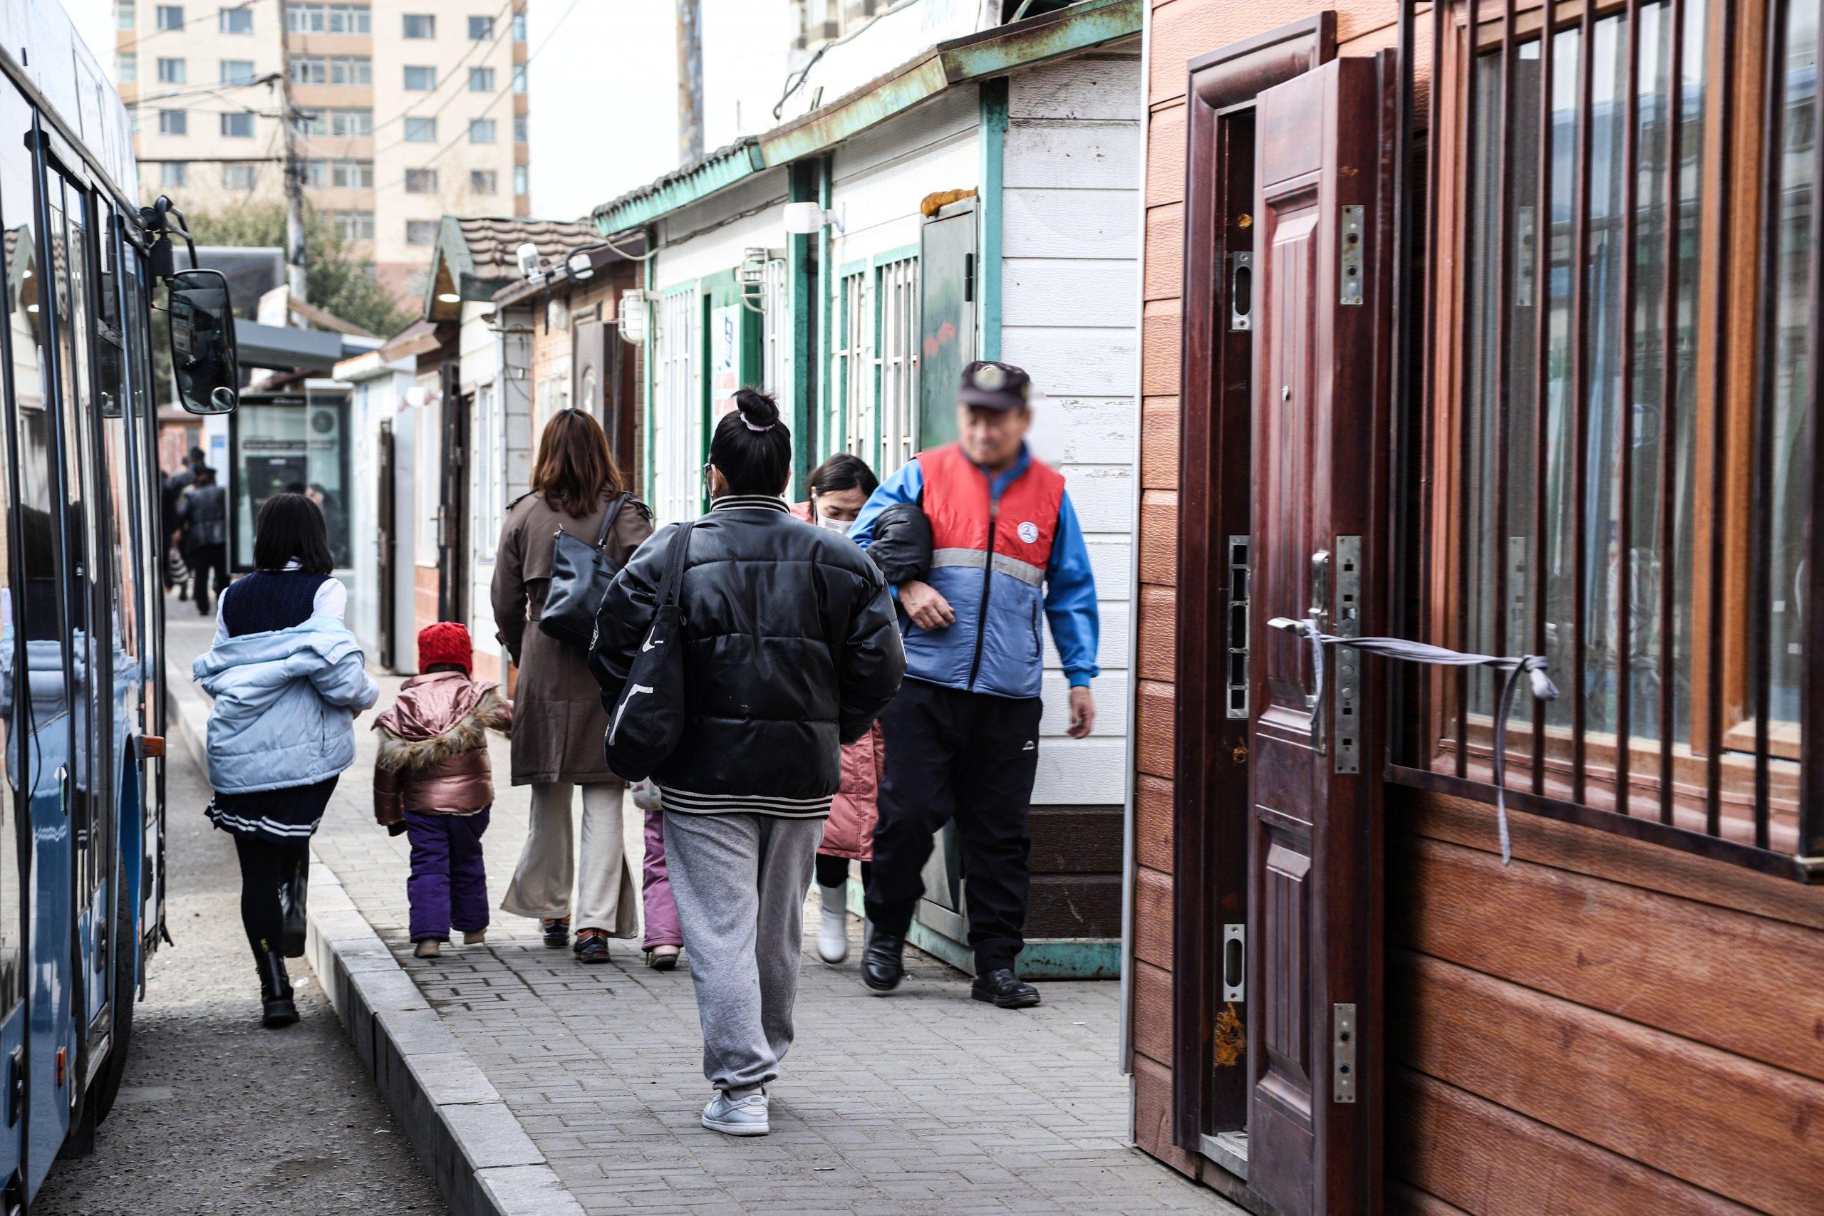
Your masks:
[[[653,534],[651,514],[627,498],[607,450],[607,436],[580,410],[560,410],[538,439],[533,492],[507,510],[494,558],[494,623],[520,667],[514,685],[513,784],[533,788],[525,850],[500,902],[505,912],[538,917],[545,944],[569,941],[571,881],[576,881],[576,957],[607,961],[609,937],[633,937],[638,899],[622,846],[624,784],[602,753],[607,715],[589,675],[587,654],[538,627],[551,585],[558,531],[584,543],[602,534],[602,520],[620,503],[607,554],[626,563]],[[582,786],[582,862],[575,860],[571,793]]]

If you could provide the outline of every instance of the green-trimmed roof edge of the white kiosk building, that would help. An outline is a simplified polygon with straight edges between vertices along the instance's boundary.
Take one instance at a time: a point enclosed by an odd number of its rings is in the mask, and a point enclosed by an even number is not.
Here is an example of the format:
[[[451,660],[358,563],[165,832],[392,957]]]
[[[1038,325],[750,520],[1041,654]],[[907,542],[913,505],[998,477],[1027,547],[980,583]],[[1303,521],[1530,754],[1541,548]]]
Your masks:
[[[591,219],[604,237],[640,228],[762,170],[824,151],[959,84],[1138,35],[1144,9],[1145,0],[1083,0],[1016,26],[939,42],[828,106],[604,202]]]

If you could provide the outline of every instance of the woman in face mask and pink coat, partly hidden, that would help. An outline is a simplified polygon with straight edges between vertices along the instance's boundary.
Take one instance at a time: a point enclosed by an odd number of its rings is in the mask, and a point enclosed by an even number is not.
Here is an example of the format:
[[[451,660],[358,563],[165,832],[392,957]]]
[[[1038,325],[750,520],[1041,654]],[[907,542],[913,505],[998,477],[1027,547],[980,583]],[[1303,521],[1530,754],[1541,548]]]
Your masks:
[[[865,459],[837,452],[812,470],[810,500],[793,507],[792,514],[846,536],[879,485],[881,479]],[[843,746],[843,788],[835,791],[830,820],[823,826],[823,842],[817,846],[817,891],[823,899],[817,957],[824,963],[834,964],[848,957],[850,860],[861,862],[861,886],[868,886],[874,820],[879,815],[881,762],[879,724]]]

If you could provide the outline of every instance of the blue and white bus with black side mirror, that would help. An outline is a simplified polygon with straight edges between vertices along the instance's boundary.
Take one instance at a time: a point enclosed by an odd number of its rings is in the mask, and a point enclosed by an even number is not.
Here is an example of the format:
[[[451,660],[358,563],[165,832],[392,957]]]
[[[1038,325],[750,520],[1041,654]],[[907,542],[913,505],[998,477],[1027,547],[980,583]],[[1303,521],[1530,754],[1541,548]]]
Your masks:
[[[93,1143],[164,935],[155,297],[182,405],[239,383],[226,283],[137,195],[62,7],[0,0],[0,1214]]]

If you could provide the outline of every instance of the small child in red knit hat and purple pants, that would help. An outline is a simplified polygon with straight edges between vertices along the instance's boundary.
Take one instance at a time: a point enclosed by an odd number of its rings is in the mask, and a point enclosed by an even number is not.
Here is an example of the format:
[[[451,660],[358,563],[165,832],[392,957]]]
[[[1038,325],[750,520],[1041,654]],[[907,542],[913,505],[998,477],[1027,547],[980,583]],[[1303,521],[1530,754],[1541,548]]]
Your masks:
[[[482,833],[494,804],[487,731],[513,729],[513,702],[498,684],[472,678],[469,629],[454,622],[418,634],[418,671],[374,722],[374,819],[410,837],[412,953],[434,959],[451,926],[467,946],[487,937]]]

